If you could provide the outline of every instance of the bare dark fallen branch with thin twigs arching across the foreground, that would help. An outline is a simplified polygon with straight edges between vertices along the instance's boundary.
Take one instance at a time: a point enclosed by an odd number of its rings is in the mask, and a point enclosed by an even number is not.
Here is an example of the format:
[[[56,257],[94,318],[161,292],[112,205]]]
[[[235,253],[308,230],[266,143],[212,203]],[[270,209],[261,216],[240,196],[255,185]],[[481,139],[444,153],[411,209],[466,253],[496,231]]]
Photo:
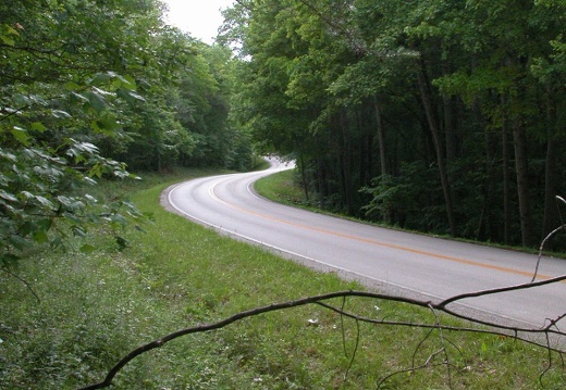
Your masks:
[[[108,375],[106,376],[104,380],[102,380],[101,382],[95,383],[95,385],[90,385],[90,386],[81,388],[79,390],[94,390],[94,389],[103,389],[103,388],[110,387],[112,385],[114,377],[118,375],[118,373],[131,361],[133,361],[137,356],[139,356],[148,351],[160,348],[160,347],[164,345],[165,343],[168,343],[169,341],[172,341],[176,338],[180,338],[180,337],[183,337],[186,335],[190,335],[190,334],[218,330],[218,329],[224,328],[227,325],[231,325],[233,323],[236,323],[236,322],[242,320],[247,317],[253,317],[253,316],[257,316],[257,315],[269,313],[269,312],[275,312],[275,311],[282,311],[282,310],[292,309],[292,307],[304,306],[304,305],[308,305],[308,304],[321,305],[321,306],[332,310],[336,313],[340,313],[341,315],[355,319],[357,322],[357,324],[359,324],[360,322],[365,322],[365,323],[371,323],[371,324],[378,324],[378,325],[408,326],[408,327],[413,327],[413,328],[429,328],[429,329],[431,329],[431,331],[434,329],[436,329],[439,331],[442,331],[442,330],[467,331],[467,332],[500,335],[500,336],[506,336],[506,337],[508,337],[509,332],[512,332],[513,334],[512,337],[514,337],[517,340],[521,340],[521,341],[525,341],[528,343],[532,343],[532,344],[545,348],[549,350],[549,353],[554,351],[554,352],[558,352],[562,354],[562,353],[566,353],[566,349],[565,349],[566,347],[564,347],[564,345],[563,347],[553,347],[551,343],[550,336],[552,335],[554,337],[557,336],[557,337],[566,338],[566,332],[559,330],[556,327],[556,323],[559,319],[564,318],[566,316],[566,313],[561,315],[558,318],[551,320],[547,326],[544,326],[542,328],[524,328],[524,327],[503,326],[503,325],[491,323],[491,322],[478,320],[478,319],[471,318],[469,316],[460,315],[452,310],[448,310],[446,306],[451,303],[455,303],[457,301],[460,301],[460,300],[464,300],[467,298],[489,295],[489,294],[501,293],[501,292],[505,292],[505,291],[526,290],[526,289],[531,289],[537,286],[544,286],[544,285],[547,285],[551,282],[559,282],[563,280],[566,280],[566,275],[556,277],[553,279],[549,279],[549,280],[539,281],[536,284],[525,284],[525,285],[512,286],[512,287],[506,287],[506,288],[499,288],[499,289],[492,289],[492,290],[482,290],[482,291],[477,291],[477,292],[471,292],[471,293],[465,293],[465,294],[456,295],[453,298],[448,298],[446,300],[441,301],[440,303],[433,303],[431,301],[411,299],[411,298],[406,298],[406,297],[395,297],[395,295],[387,295],[387,294],[383,294],[383,293],[354,291],[354,290],[331,292],[331,293],[327,293],[327,294],[308,297],[308,298],[298,299],[298,300],[294,300],[294,301],[275,303],[275,304],[271,304],[268,306],[262,306],[262,307],[257,307],[257,309],[249,310],[249,311],[244,311],[244,312],[237,313],[229,318],[225,318],[223,320],[220,320],[220,322],[217,322],[213,324],[199,325],[199,326],[195,326],[195,327],[185,328],[185,329],[169,334],[158,340],[153,340],[147,344],[144,344],[144,345],[133,350],[126,356],[124,356],[114,367],[112,367],[108,372]],[[415,324],[415,323],[386,322],[386,320],[380,320],[380,319],[376,319],[376,318],[366,318],[366,317],[361,317],[361,316],[358,316],[358,315],[355,315],[352,313],[347,313],[344,310],[344,303],[342,304],[341,309],[337,309],[337,307],[334,307],[334,306],[328,304],[327,302],[324,302],[324,301],[336,299],[336,298],[342,298],[344,300],[348,297],[381,299],[381,300],[385,300],[385,301],[402,302],[402,303],[410,304],[414,306],[430,309],[431,311],[433,311],[433,314],[435,316],[435,322],[434,322],[434,324]],[[444,312],[446,314],[450,314],[450,315],[458,317],[458,318],[463,318],[463,319],[467,319],[467,320],[470,320],[476,324],[489,326],[492,329],[475,329],[475,328],[470,328],[470,327],[466,328],[466,327],[444,326],[440,322],[438,312]],[[531,335],[531,336],[532,335],[544,335],[545,339],[546,339],[546,343],[545,344],[537,343],[536,341],[531,340],[530,338],[519,336],[520,334],[526,334],[526,335]],[[359,338],[359,331],[358,331],[357,337]],[[431,362],[438,354],[444,354],[445,360],[443,363],[440,363],[440,364],[445,365],[447,367],[448,375],[450,375],[450,373],[451,373],[450,372],[450,361],[447,360],[446,344],[445,344],[445,340],[444,340],[442,334],[441,334],[441,341],[442,341],[442,349],[440,351],[438,351],[438,353],[434,353],[433,355],[431,355],[430,358],[422,366],[414,367],[414,368],[411,368],[411,370],[426,368],[431,365]],[[353,353],[354,356],[356,355],[357,344],[358,344],[358,341],[356,341],[355,351]],[[354,358],[354,356],[352,356],[352,358]],[[438,364],[434,364],[434,365],[438,365]],[[347,373],[346,373],[346,375],[347,375]],[[391,377],[391,376],[387,376],[387,377]]]

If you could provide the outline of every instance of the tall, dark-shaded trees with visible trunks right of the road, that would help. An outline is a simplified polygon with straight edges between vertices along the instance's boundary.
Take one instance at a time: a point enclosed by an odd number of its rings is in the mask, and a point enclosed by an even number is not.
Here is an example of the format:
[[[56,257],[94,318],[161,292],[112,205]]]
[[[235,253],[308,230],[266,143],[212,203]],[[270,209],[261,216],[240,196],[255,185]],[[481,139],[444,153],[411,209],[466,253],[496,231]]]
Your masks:
[[[537,246],[565,194],[563,0],[239,0],[237,119],[325,209]]]

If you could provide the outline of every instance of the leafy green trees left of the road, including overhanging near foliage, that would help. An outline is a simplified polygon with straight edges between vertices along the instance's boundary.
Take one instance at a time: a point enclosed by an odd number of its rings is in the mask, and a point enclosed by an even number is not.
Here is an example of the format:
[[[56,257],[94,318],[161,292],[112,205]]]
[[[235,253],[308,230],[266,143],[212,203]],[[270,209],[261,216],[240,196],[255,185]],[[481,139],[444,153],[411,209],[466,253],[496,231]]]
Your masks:
[[[230,50],[164,12],[158,0],[1,2],[0,266],[30,242],[135,216],[77,191],[99,177],[251,164],[249,137],[229,124]]]

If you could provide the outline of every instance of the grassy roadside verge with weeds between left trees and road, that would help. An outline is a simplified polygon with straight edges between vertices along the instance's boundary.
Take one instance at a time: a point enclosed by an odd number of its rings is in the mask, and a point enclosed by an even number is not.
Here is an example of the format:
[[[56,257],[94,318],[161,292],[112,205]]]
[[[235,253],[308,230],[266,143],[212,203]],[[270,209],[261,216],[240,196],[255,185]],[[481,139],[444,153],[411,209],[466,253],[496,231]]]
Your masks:
[[[273,302],[360,289],[221,237],[159,205],[169,184],[205,174],[183,172],[167,183],[153,177],[125,188],[107,185],[108,196],[132,193],[155,222],[146,234],[132,232],[124,251],[96,236],[98,250],[89,255],[38,252],[22,262],[17,274],[40,302],[0,274],[0,389],[74,389],[100,380],[132,349],[168,332]],[[426,311],[391,302],[332,303],[359,315],[434,320]],[[549,354],[509,339],[367,325],[304,306],[177,339],[132,362],[113,388],[373,389],[380,378],[413,361],[426,363],[443,345],[454,365],[451,380],[445,367],[433,366],[443,358],[436,355],[428,369],[396,375],[382,389],[566,383],[557,364],[539,381]]]

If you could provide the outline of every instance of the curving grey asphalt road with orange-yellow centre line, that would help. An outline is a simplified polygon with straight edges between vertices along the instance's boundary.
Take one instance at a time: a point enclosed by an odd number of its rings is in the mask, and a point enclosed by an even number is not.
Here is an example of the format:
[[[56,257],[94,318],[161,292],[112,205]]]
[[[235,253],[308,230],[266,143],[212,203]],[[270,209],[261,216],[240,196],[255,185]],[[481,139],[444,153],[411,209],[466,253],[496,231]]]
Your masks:
[[[290,166],[185,181],[163,203],[190,219],[380,291],[438,302],[456,294],[529,282],[537,256],[331,217],[281,205],[253,189]],[[566,274],[566,261],[543,257],[538,280]],[[505,325],[542,327],[566,313],[566,284],[467,299],[457,311]],[[451,306],[453,309],[453,306]],[[563,327],[566,320],[558,323]]]

